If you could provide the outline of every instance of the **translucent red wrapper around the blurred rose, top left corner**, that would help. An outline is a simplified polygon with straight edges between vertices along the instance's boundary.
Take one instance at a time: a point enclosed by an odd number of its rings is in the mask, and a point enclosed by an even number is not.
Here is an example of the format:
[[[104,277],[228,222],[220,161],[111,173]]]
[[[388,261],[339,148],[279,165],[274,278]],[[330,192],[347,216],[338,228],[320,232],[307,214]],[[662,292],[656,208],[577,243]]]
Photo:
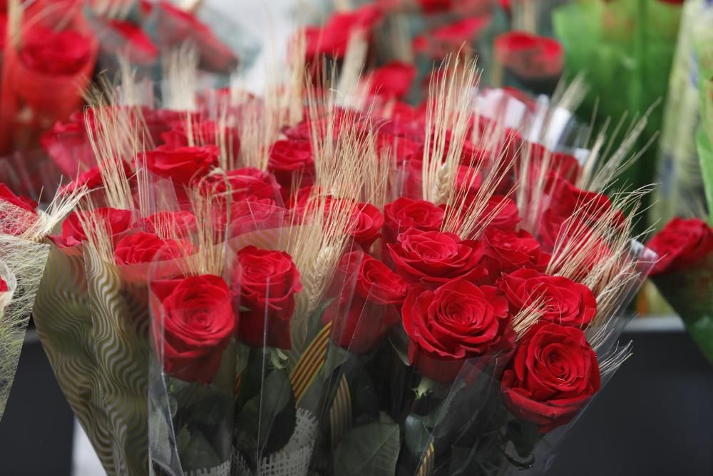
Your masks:
[[[71,2],[65,2],[71,6]],[[58,9],[61,1],[38,1],[24,12],[21,42],[34,29],[76,31],[86,37],[88,55],[73,74],[48,74],[29,68],[21,59],[21,48],[6,41],[0,96],[0,153],[36,148],[39,136],[55,121],[64,120],[83,103],[82,94],[93,74],[98,42],[81,15],[81,9]]]

